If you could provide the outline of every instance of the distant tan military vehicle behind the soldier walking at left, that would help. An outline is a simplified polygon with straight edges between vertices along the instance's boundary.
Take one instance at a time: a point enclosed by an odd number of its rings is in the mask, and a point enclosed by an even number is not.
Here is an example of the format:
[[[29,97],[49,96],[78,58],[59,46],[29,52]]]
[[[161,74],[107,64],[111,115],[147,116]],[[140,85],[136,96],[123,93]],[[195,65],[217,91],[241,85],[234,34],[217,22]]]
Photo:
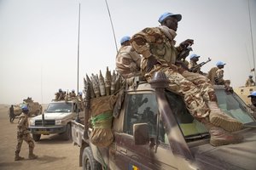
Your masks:
[[[20,116],[21,108],[26,105],[29,109],[29,116],[38,116],[42,114],[43,107],[38,102],[34,102],[32,98],[23,99],[23,102],[19,105],[14,105],[15,116]]]

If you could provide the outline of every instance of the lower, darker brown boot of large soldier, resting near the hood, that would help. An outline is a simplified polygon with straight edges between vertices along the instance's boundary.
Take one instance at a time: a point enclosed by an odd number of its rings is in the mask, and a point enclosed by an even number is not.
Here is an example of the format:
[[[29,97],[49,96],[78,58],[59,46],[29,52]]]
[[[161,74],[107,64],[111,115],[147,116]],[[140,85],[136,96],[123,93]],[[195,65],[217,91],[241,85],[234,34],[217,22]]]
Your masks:
[[[212,146],[219,146],[224,144],[237,144],[241,143],[243,136],[237,133],[230,133],[225,131],[222,127],[215,127],[211,122],[205,120],[203,122],[211,135],[210,144]]]

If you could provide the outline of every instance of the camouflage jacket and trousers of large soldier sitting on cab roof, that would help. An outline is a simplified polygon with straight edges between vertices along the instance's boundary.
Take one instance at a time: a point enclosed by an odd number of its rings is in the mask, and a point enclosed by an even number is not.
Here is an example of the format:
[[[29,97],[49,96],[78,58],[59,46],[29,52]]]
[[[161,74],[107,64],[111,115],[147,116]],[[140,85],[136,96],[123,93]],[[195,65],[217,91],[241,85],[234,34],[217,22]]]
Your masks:
[[[190,113],[201,119],[208,116],[210,112],[202,94],[204,96],[212,95],[212,97],[207,96],[206,99],[216,100],[216,96],[212,93],[212,86],[209,83],[205,84],[205,78],[174,65],[177,54],[182,52],[183,48],[181,46],[175,47],[173,39],[176,32],[169,30],[171,32],[167,35],[168,32],[166,33],[160,27],[145,28],[131,38],[131,45],[137,53],[143,54],[141,68],[147,81],[150,81],[154,72],[164,72],[170,80],[170,90],[182,94]],[[153,64],[152,60],[154,61]],[[189,79],[196,83],[189,81]]]

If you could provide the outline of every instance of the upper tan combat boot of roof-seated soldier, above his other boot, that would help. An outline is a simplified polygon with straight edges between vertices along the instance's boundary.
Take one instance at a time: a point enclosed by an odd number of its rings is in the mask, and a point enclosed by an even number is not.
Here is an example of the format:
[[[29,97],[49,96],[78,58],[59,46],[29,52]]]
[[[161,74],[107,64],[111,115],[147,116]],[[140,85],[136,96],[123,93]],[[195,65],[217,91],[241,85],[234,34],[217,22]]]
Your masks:
[[[229,132],[241,130],[242,123],[238,122],[233,117],[224,114],[224,112],[218,108],[218,105],[216,102],[211,101],[211,102],[208,102],[207,105],[211,111],[209,115],[209,119],[214,126],[222,127],[224,128],[224,130]]]

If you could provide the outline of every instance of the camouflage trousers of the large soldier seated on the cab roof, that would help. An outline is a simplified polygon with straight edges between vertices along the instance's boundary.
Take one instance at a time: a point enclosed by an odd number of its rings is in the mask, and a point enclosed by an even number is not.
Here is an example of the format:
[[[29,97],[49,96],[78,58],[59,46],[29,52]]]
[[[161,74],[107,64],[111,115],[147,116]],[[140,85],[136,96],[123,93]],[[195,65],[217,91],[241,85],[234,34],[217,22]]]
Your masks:
[[[195,83],[189,81],[189,79],[183,77],[182,74],[178,73],[177,66],[163,66],[163,65],[154,65],[154,68],[145,74],[145,78],[149,82],[151,77],[153,77],[154,72],[162,71],[166,74],[166,77],[169,79],[169,90],[176,94],[181,94],[187,109],[196,119],[201,120],[209,116],[210,110],[207,107],[207,104],[204,100],[203,93],[207,91],[203,86],[198,88]],[[189,74],[185,75],[189,77]],[[192,80],[192,77],[190,77]],[[196,82],[196,79],[195,79]],[[199,83],[200,80],[197,80]]]

